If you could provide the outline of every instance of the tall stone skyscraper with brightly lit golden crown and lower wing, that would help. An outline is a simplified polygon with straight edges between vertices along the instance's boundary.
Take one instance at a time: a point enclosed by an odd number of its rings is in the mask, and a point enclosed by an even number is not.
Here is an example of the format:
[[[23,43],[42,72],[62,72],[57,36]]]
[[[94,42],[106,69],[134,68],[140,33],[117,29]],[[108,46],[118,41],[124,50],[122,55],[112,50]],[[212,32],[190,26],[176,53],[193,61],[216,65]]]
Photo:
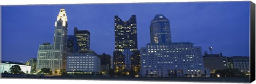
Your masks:
[[[60,9],[55,22],[53,45],[50,45],[50,43],[39,45],[37,70],[50,68],[55,74],[60,74],[61,69],[66,69],[67,55],[69,55],[67,47],[67,21],[65,9]]]

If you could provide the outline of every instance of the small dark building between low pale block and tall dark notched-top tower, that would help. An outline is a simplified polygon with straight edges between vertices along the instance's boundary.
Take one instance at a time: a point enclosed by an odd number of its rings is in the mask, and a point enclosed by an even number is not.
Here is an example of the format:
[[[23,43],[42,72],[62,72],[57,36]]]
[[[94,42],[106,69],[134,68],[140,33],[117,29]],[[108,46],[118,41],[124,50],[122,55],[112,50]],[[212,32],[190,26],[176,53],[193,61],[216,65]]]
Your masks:
[[[98,55],[98,57],[100,58],[100,71],[102,74],[108,74],[111,68],[111,56],[103,53],[102,55]]]

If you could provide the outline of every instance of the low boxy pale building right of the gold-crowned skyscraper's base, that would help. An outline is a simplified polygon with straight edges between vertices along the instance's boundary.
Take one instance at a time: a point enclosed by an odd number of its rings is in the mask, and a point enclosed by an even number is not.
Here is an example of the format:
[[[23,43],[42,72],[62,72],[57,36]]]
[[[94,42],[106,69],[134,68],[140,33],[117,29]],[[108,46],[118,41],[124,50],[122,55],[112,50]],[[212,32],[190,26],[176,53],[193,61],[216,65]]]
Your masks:
[[[73,53],[67,57],[68,74],[99,74],[100,58],[94,53]]]

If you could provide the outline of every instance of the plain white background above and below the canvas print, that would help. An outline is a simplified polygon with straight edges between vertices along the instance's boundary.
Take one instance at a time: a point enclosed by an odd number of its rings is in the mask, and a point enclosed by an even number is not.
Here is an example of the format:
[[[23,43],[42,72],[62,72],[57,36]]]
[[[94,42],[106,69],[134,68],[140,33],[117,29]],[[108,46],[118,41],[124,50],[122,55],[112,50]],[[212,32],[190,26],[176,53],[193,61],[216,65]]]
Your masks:
[[[28,4],[76,4],[76,3],[138,3],[138,2],[198,2],[198,1],[227,1],[227,0],[161,0],[161,1],[149,1],[149,0],[94,0],[94,1],[81,1],[81,0],[7,0],[3,1],[0,0],[0,5],[28,5]],[[232,0],[232,1],[238,1],[238,0]],[[248,1],[248,0],[246,0]],[[256,0],[252,0],[254,3],[256,3]],[[1,9],[0,9],[1,11]],[[0,13],[1,16],[1,13]],[[1,19],[0,19],[0,26],[1,26]],[[1,35],[1,34],[0,34]],[[1,42],[1,39],[0,39]],[[0,44],[1,47],[1,44]],[[1,50],[0,50],[1,53]],[[1,55],[1,54],[0,54]],[[1,60],[1,59],[0,59]],[[251,74],[253,75],[253,74]],[[255,74],[254,74],[255,75]],[[94,83],[102,83],[102,84],[136,84],[136,83],[145,83],[145,84],[165,84],[165,83],[206,83],[206,82],[154,82],[154,81],[93,81],[93,80],[54,80],[54,79],[0,79],[1,83],[55,83],[55,84],[78,84],[78,83],[86,83],[86,84],[94,84]],[[209,82],[212,84],[212,82]],[[256,83],[255,81],[253,83]]]

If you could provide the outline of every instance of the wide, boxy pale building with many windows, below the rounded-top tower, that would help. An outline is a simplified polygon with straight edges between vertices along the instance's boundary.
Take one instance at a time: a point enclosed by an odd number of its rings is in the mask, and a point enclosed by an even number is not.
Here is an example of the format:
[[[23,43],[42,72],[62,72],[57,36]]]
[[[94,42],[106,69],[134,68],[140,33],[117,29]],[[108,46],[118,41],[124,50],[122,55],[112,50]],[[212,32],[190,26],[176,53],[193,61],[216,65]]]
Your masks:
[[[209,75],[204,68],[201,47],[193,43],[148,43],[141,51],[142,76],[183,77]]]

